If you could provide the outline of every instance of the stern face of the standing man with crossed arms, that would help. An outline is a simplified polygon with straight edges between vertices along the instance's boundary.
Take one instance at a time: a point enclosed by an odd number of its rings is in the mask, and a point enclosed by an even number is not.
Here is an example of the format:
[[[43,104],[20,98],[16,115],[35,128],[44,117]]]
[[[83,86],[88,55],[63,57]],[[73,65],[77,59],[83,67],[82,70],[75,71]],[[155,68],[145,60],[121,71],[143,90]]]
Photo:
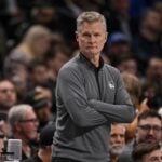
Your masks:
[[[100,22],[84,22],[76,35],[80,52],[87,58],[99,55],[107,39],[107,32]]]

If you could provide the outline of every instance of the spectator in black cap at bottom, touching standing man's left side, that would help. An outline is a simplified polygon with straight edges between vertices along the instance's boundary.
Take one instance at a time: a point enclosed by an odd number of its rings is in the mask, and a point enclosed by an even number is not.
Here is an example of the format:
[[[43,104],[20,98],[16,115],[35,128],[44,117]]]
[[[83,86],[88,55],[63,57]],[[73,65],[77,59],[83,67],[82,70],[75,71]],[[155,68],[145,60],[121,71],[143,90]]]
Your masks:
[[[53,123],[49,123],[43,127],[40,132],[40,143],[37,154],[23,162],[51,162],[54,131],[55,125]]]

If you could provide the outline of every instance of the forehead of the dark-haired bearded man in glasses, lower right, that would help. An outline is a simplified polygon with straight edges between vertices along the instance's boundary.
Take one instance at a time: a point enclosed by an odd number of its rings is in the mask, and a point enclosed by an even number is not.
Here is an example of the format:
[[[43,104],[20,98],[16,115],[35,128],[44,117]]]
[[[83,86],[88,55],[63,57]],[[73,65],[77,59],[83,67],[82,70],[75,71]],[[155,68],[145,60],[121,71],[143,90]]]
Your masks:
[[[156,117],[148,117],[146,119],[141,119],[139,121],[139,124],[149,124],[149,125],[162,125],[162,121],[160,121],[159,118],[156,118]]]

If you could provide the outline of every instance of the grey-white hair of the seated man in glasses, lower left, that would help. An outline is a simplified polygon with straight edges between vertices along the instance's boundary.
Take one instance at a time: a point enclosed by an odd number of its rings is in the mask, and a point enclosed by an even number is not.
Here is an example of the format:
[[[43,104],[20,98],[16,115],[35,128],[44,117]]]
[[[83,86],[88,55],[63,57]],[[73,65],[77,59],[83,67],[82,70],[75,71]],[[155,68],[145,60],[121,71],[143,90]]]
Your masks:
[[[8,113],[8,123],[10,126],[10,131],[12,132],[14,129],[14,123],[17,121],[22,121],[25,119],[27,110],[32,109],[31,106],[26,104],[15,105],[11,107]]]

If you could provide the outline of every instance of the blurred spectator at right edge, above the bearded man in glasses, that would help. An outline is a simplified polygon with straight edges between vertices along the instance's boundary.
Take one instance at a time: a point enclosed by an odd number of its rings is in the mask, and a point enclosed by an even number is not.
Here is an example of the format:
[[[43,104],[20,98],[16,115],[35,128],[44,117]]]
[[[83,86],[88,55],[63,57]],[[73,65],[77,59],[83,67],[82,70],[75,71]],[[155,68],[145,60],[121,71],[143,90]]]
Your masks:
[[[153,109],[162,107],[162,58],[152,57],[146,69],[143,95],[148,98],[148,106]]]

